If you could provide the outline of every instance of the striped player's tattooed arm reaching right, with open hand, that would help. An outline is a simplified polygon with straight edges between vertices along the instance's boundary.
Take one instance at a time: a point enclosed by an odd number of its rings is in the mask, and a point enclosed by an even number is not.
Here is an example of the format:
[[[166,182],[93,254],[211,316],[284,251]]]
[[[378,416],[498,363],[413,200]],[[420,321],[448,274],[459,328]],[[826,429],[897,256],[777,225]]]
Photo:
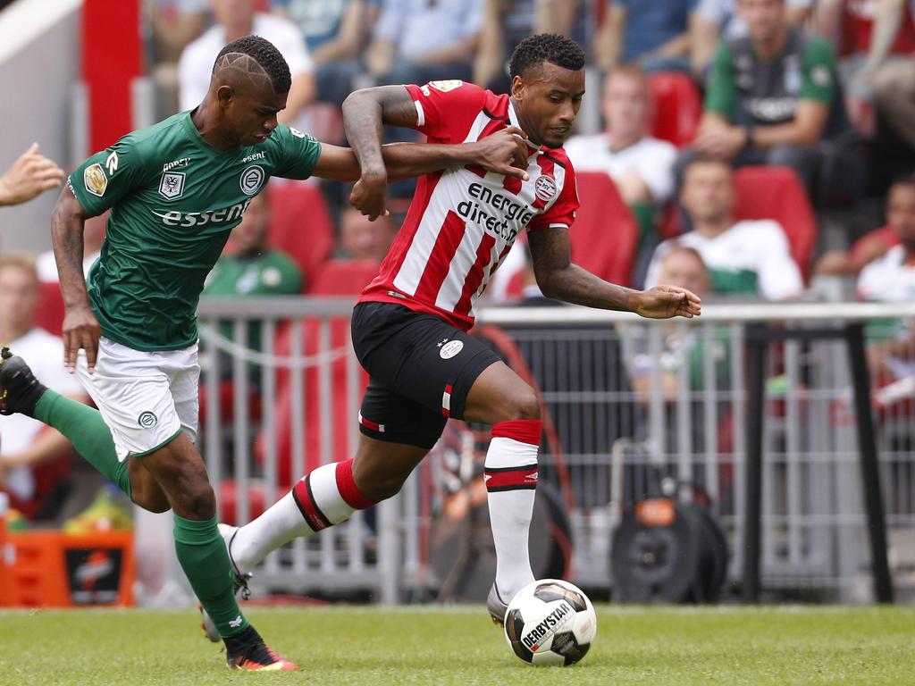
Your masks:
[[[656,286],[635,291],[608,284],[572,263],[568,229],[550,228],[528,233],[533,272],[547,297],[606,310],[635,312],[651,319],[672,316],[693,318],[702,314],[697,295],[677,286]]]

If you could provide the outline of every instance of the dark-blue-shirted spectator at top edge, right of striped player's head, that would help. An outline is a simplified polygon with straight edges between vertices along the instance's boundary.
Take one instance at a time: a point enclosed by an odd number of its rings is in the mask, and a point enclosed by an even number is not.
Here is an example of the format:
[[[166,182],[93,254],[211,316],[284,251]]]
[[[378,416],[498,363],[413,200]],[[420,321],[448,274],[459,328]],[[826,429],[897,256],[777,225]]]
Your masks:
[[[608,0],[595,42],[597,64],[637,63],[646,71],[689,70],[687,27],[696,0]]]

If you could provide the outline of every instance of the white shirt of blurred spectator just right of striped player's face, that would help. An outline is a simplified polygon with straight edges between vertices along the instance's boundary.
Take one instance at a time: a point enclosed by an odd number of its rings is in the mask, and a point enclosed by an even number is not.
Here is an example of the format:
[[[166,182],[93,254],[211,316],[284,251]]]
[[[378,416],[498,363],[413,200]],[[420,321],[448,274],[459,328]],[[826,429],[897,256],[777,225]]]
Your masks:
[[[576,172],[604,172],[614,181],[634,172],[648,186],[658,205],[663,205],[673,194],[677,149],[667,141],[644,136],[638,143],[613,151],[608,134],[576,135],[565,143],[565,154]]]

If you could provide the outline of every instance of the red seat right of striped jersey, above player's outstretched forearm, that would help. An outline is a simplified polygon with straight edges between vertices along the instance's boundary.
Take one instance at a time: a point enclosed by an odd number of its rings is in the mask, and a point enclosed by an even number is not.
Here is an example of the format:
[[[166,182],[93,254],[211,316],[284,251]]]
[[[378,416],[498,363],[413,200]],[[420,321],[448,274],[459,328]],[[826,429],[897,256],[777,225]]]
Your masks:
[[[606,174],[576,175],[581,207],[569,231],[572,262],[614,284],[629,285],[639,225]]]

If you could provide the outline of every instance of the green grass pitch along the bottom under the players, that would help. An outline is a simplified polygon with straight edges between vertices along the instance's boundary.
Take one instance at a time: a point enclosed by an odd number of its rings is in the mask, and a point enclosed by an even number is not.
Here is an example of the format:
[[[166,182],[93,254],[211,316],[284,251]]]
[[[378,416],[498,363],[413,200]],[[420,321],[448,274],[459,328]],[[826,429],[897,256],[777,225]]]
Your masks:
[[[482,606],[252,608],[302,672],[232,673],[193,611],[0,612],[0,684],[915,684],[913,607],[597,606],[571,668],[511,654]]]

